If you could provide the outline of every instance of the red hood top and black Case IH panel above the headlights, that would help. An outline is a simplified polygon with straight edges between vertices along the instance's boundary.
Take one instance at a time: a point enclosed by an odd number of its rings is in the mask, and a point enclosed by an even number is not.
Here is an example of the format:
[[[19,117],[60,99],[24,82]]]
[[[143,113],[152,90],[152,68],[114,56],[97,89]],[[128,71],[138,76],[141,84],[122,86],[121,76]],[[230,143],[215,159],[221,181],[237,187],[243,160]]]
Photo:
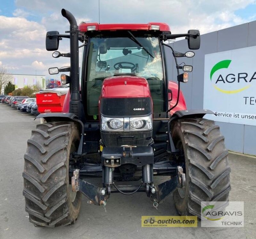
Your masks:
[[[153,102],[148,81],[137,76],[113,76],[103,81],[100,115],[144,116],[152,114]]]

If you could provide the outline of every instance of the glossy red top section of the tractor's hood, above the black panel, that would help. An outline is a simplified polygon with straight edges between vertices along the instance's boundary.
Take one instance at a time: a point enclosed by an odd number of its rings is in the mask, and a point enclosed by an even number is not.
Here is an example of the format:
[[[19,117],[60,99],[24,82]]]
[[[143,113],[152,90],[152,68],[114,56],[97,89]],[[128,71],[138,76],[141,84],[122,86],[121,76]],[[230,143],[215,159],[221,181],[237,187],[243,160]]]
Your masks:
[[[148,82],[143,77],[113,76],[103,81],[101,98],[150,97]]]

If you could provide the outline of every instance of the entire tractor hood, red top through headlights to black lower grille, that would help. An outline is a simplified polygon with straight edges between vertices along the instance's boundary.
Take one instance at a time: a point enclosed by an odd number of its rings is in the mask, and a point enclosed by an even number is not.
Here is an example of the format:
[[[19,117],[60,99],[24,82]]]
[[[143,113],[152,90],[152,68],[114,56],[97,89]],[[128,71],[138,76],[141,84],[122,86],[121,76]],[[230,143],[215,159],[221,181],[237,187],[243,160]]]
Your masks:
[[[106,78],[99,110],[103,145],[148,146],[152,143],[153,103],[145,78],[129,75]]]

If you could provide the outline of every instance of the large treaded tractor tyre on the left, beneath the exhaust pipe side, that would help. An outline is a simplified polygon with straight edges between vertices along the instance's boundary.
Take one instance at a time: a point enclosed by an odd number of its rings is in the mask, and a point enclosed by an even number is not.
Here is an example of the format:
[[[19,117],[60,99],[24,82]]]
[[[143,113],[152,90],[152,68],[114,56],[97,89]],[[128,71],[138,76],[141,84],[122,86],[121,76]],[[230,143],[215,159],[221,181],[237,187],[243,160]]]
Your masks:
[[[79,131],[74,122],[38,124],[24,155],[25,210],[36,226],[57,227],[75,222],[80,192],[69,184],[69,154],[76,151]]]

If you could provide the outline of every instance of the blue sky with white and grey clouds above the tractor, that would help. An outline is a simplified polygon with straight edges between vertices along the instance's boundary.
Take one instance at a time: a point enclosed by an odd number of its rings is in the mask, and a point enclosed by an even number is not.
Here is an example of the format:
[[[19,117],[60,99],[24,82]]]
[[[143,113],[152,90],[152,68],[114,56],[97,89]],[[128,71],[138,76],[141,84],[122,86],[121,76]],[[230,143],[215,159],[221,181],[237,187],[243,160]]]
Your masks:
[[[254,0],[0,0],[0,65],[12,74],[48,75],[49,67],[69,65],[45,50],[47,31],[64,34],[71,11],[79,24],[165,22],[173,34],[199,29],[201,34],[256,20]],[[68,40],[60,52],[69,52]]]

